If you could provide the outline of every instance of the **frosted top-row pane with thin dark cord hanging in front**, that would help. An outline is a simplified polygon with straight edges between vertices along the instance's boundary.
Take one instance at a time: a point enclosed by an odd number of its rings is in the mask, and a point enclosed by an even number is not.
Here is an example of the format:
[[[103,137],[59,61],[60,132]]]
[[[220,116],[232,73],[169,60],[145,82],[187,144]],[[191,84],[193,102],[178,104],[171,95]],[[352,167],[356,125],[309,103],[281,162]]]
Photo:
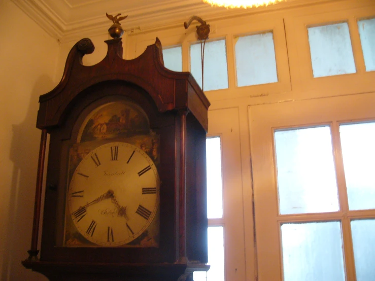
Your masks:
[[[202,87],[200,43],[190,46],[190,72]],[[225,40],[206,42],[204,47],[204,91],[228,88]]]

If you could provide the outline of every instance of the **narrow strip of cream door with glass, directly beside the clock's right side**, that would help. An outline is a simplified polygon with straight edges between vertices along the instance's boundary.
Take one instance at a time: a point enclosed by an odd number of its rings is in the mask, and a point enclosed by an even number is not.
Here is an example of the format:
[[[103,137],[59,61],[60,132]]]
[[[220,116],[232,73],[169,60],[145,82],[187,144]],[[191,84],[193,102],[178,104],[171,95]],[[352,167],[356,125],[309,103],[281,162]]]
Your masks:
[[[212,186],[212,183],[217,183],[217,181],[210,180],[212,173],[210,172],[210,155],[208,155],[209,263],[211,272],[209,271],[207,280],[242,281],[245,280],[246,270],[240,124],[237,108],[209,111],[208,138],[215,137],[220,139],[221,151],[219,149],[216,153],[219,154],[219,159],[221,158],[222,190],[220,183],[216,187]],[[207,145],[209,150],[210,142]],[[216,172],[212,177],[219,179],[219,173]],[[221,215],[220,212],[215,212],[215,206],[220,204],[219,193],[222,193]],[[217,227],[222,227],[222,230]],[[215,231],[215,229],[219,231]],[[220,231],[223,233],[223,239],[218,237]],[[220,262],[221,257],[218,256],[222,255],[222,252],[225,257],[224,266]],[[196,276],[194,280],[206,280],[206,278],[202,276],[198,279]]]

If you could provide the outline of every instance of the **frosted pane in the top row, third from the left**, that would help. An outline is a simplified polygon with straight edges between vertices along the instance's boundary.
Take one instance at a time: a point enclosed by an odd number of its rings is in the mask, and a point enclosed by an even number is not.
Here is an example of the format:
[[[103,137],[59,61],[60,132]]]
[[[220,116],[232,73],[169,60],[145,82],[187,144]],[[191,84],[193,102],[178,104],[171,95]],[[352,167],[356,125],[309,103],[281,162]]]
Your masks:
[[[278,82],[272,32],[238,38],[235,64],[238,87]]]

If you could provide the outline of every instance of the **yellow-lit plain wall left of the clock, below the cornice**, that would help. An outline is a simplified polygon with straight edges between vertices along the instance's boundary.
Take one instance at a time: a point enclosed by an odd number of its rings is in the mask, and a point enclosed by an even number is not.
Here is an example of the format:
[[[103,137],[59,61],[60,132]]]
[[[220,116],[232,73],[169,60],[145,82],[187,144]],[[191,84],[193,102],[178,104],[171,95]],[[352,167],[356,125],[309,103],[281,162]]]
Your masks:
[[[41,131],[39,95],[56,85],[58,43],[9,0],[0,1],[0,279],[46,280],[25,269]]]

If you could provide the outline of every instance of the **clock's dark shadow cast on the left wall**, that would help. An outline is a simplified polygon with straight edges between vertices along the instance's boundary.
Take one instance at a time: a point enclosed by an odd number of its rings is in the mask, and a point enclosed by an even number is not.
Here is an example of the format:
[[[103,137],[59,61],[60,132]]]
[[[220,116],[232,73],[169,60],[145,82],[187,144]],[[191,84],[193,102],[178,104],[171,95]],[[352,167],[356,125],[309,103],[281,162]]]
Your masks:
[[[54,83],[48,76],[42,76],[32,89],[26,118],[20,124],[13,124],[10,159],[13,174],[10,190],[8,222],[5,222],[6,247],[3,257],[1,280],[47,280],[40,273],[32,272],[21,265],[30,250],[35,188],[38,168],[41,130],[36,128],[39,96],[45,89],[52,89]],[[17,110],[17,108],[15,108]],[[44,197],[44,192],[43,196]],[[42,218],[41,218],[42,222]],[[39,241],[41,236],[39,236]]]

